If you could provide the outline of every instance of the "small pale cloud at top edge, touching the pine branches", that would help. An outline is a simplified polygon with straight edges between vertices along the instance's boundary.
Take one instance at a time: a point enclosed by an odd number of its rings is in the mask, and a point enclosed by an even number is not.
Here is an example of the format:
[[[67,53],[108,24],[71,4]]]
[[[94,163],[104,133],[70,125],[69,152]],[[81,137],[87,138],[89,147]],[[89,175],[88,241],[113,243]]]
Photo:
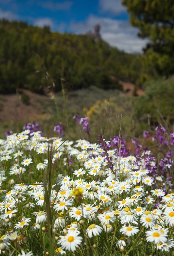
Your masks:
[[[99,6],[101,12],[110,12],[112,14],[126,12],[126,8],[122,6],[121,0],[100,0]]]

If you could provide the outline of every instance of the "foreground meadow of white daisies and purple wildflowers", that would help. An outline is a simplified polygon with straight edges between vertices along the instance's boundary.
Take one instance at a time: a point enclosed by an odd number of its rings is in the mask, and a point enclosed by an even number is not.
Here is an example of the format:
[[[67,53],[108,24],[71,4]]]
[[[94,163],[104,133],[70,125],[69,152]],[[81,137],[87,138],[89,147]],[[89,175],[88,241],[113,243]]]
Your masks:
[[[0,254],[174,255],[174,133],[156,128],[155,158],[136,138],[131,155],[121,134],[90,143],[65,139],[61,123],[60,137],[38,129],[0,140]]]

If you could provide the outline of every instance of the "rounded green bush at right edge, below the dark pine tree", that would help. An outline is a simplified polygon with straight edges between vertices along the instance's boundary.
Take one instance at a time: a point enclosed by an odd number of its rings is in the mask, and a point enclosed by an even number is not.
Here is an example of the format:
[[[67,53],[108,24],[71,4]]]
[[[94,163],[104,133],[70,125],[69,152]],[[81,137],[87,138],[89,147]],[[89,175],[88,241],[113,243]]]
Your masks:
[[[174,79],[160,79],[145,84],[146,94],[135,99],[134,113],[140,120],[158,122],[161,116],[174,121]]]

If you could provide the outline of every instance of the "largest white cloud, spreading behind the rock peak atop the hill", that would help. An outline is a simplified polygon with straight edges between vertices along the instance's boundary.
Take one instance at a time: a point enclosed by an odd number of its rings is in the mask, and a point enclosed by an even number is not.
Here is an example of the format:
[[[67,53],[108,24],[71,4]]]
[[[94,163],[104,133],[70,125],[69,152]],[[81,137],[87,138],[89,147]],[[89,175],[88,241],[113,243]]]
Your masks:
[[[126,52],[141,52],[147,43],[147,40],[138,38],[138,29],[130,26],[126,20],[90,15],[84,22],[71,22],[70,29],[76,34],[82,34],[93,29],[96,23],[101,25],[101,37],[104,41]]]

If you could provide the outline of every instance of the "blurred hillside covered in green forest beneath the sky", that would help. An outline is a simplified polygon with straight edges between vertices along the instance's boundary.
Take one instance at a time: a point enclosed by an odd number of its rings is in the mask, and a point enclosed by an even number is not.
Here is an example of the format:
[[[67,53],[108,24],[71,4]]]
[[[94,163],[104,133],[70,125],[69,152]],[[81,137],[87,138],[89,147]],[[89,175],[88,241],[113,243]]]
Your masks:
[[[55,84],[61,90],[61,78],[67,89],[120,89],[118,80],[141,82],[141,56],[95,43],[83,35],[51,32],[25,22],[0,20],[0,93],[28,88],[44,93]],[[48,73],[47,73],[48,72]],[[49,77],[46,76],[49,74]]]

